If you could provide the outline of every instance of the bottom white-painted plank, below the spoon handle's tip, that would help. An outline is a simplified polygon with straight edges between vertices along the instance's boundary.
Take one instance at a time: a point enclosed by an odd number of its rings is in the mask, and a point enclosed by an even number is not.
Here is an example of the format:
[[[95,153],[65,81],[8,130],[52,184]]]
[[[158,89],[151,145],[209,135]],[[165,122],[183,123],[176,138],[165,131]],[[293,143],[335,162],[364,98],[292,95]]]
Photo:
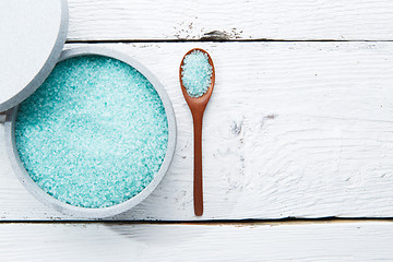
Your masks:
[[[311,225],[2,224],[11,261],[392,261],[392,223]]]

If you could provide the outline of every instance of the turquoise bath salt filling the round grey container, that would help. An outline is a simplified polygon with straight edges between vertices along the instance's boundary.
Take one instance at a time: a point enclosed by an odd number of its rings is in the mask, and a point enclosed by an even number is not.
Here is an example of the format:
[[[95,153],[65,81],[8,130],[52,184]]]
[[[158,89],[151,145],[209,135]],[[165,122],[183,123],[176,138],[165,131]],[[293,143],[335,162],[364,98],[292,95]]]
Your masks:
[[[17,111],[15,142],[32,179],[75,206],[107,207],[140,193],[168,143],[163,103],[131,66],[103,56],[58,63]]]

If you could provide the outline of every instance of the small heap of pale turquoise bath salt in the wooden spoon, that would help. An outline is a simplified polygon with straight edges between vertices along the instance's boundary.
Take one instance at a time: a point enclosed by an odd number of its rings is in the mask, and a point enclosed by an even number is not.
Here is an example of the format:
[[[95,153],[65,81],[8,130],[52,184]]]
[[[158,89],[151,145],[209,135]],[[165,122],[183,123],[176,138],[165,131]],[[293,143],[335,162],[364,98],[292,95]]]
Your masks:
[[[191,97],[200,97],[212,83],[213,68],[206,53],[195,50],[187,55],[181,66],[181,81]]]

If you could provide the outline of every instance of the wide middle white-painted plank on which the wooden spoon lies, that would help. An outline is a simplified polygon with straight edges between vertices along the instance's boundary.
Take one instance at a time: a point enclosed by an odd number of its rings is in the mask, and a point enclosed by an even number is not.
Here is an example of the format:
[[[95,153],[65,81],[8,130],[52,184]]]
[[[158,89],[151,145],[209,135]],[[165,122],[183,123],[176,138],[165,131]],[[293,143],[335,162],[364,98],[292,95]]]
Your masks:
[[[107,44],[162,81],[178,140],[169,172],[116,219],[393,217],[393,43]],[[68,48],[71,46],[69,45]],[[204,119],[205,213],[192,207],[192,122],[178,67],[206,49],[216,86]],[[12,174],[0,129],[1,219],[70,218]]]

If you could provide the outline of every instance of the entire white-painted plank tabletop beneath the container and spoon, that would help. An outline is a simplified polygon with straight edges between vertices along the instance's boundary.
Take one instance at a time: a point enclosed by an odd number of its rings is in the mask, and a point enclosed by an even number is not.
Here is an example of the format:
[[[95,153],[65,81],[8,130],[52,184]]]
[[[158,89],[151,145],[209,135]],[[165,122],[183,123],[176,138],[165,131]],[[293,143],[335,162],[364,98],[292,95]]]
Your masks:
[[[134,210],[83,221],[25,191],[1,124],[1,262],[393,261],[393,1],[69,0],[69,9],[66,48],[128,52],[164,84],[175,158]],[[202,217],[178,83],[194,47],[216,67]]]

